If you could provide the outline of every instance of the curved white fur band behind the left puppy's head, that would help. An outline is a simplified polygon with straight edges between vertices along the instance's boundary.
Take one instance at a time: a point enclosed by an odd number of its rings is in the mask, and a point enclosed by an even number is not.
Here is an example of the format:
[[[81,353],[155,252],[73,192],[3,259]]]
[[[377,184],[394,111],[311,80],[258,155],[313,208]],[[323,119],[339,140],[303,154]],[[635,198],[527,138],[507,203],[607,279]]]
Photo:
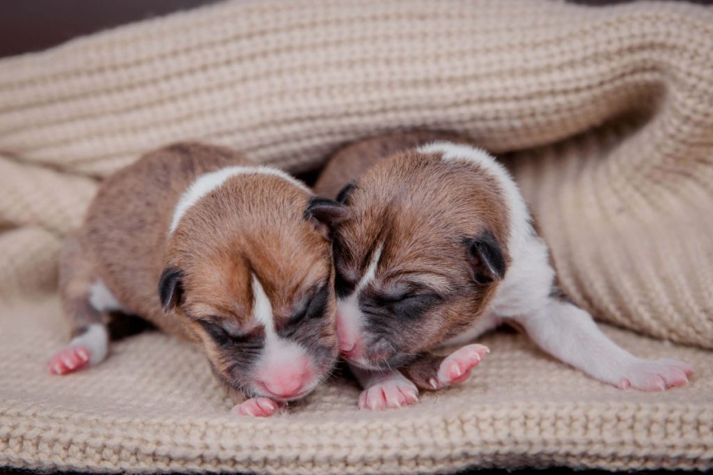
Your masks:
[[[306,193],[312,194],[304,183],[287,173],[284,173],[284,171],[278,170],[277,168],[270,168],[262,165],[255,167],[233,166],[221,168],[220,170],[200,175],[193,183],[191,183],[188,189],[185,190],[183,195],[179,198],[178,204],[173,211],[173,219],[171,220],[168,233],[173,233],[173,231],[178,228],[180,219],[183,218],[183,215],[185,215],[191,206],[198,203],[201,198],[210,194],[213,190],[220,188],[223,183],[236,175],[272,175],[282,178]]]

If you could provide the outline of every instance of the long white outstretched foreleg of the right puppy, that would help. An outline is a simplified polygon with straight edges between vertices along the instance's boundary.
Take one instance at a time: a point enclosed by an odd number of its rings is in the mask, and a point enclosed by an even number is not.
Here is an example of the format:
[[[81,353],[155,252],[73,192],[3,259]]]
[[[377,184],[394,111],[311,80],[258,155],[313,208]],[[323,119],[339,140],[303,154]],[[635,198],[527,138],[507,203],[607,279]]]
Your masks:
[[[515,318],[538,346],[591,377],[621,389],[662,391],[687,384],[693,369],[675,359],[635,357],[603,334],[584,310],[549,299],[539,310]]]

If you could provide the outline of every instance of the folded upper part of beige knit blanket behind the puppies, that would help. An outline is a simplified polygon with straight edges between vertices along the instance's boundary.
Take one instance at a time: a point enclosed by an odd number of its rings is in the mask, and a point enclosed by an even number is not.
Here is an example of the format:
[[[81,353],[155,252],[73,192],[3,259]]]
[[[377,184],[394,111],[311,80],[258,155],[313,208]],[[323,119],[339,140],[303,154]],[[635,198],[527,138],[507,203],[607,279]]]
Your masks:
[[[200,139],[299,172],[347,141],[438,128],[525,150],[515,175],[580,305],[713,348],[712,110],[701,6],[292,0],[174,14],[0,61],[0,282],[46,287],[93,178],[151,148]]]

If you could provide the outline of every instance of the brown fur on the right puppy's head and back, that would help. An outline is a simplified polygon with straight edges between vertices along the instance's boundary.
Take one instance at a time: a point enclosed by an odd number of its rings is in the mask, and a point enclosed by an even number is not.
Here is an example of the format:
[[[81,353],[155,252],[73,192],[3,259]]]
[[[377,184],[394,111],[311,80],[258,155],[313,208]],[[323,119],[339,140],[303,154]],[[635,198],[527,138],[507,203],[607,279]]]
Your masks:
[[[361,176],[347,199],[351,217],[335,230],[334,263],[342,280],[354,282],[369,265],[374,247],[384,242],[376,279],[360,302],[362,307],[374,302],[369,320],[373,336],[365,346],[375,360],[386,358],[391,367],[413,361],[414,354],[425,356],[472,325],[493,297],[497,282],[473,280],[465,240],[489,230],[508,260],[508,210],[498,183],[476,166],[444,162],[413,149],[437,139],[453,141],[452,136],[400,133],[357,143],[335,155],[315,186],[325,192],[337,189],[336,181],[352,178],[337,177],[333,170],[349,168]],[[399,151],[374,155],[381,150]],[[355,170],[355,163],[370,168]],[[439,299],[419,318],[396,318],[379,310],[379,296],[423,286]],[[388,350],[380,338],[388,341]]]

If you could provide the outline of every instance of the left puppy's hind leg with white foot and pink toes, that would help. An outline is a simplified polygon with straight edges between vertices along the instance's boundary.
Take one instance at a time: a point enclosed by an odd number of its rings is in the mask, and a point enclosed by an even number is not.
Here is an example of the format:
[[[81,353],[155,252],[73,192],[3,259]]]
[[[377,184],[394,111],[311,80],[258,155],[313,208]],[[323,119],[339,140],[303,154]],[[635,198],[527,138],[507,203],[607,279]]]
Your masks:
[[[101,294],[102,290],[108,293],[106,287],[97,282],[101,283],[101,280],[93,272],[81,243],[76,237],[71,237],[60,256],[59,290],[73,338],[49,359],[47,367],[52,374],[74,372],[88,364],[98,364],[106,358],[109,334],[104,320],[106,310],[113,310],[113,307],[108,305],[101,308],[99,305],[100,309],[97,309],[92,305],[93,292],[94,300],[97,300],[96,294]],[[111,300],[111,294],[99,297],[103,297],[104,301]]]

